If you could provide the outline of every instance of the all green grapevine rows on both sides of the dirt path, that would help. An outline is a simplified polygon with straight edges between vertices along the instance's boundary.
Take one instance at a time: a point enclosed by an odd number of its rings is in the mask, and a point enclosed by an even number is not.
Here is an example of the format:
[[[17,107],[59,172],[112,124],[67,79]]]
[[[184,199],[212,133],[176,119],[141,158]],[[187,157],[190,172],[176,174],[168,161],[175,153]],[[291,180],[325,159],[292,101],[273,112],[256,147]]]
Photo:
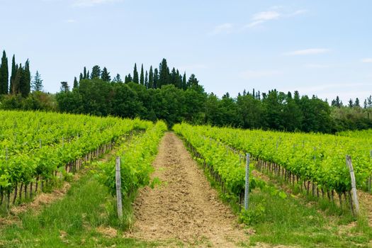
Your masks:
[[[32,198],[33,193],[43,191],[45,184],[74,173],[86,162],[112,150],[114,143],[123,144],[116,154],[123,162],[123,195],[128,195],[149,184],[150,164],[166,130],[162,122],[154,125],[142,120],[42,112],[1,111],[0,121],[0,203],[6,202],[7,208],[17,198]],[[145,132],[138,133],[139,130]],[[337,193],[340,204],[342,195],[346,200],[346,193],[351,190],[349,169],[345,166],[345,156],[350,155],[356,186],[371,190],[369,130],[320,135],[182,123],[174,125],[174,131],[184,138],[222,191],[236,197],[239,203],[244,195],[245,153],[254,161],[251,171],[258,169],[282,176],[308,193],[322,194],[323,198],[326,195],[332,201]],[[100,178],[114,193],[113,160],[101,164]],[[250,191],[263,184],[250,174]]]

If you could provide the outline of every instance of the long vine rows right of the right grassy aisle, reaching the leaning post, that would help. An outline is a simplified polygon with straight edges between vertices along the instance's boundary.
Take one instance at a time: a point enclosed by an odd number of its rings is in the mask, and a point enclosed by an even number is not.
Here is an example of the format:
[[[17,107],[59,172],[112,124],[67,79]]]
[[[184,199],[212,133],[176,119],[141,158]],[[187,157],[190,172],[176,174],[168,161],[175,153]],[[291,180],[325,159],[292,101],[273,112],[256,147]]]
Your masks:
[[[257,159],[280,164],[291,171],[293,176],[298,176],[303,181],[312,181],[320,189],[334,190],[337,193],[347,192],[351,188],[349,169],[345,165],[346,154],[353,158],[359,186],[364,186],[372,171],[369,145],[363,143],[356,146],[355,140],[347,137],[191,127],[185,123],[179,128],[191,128],[193,133],[212,137],[237,150],[249,152]]]

